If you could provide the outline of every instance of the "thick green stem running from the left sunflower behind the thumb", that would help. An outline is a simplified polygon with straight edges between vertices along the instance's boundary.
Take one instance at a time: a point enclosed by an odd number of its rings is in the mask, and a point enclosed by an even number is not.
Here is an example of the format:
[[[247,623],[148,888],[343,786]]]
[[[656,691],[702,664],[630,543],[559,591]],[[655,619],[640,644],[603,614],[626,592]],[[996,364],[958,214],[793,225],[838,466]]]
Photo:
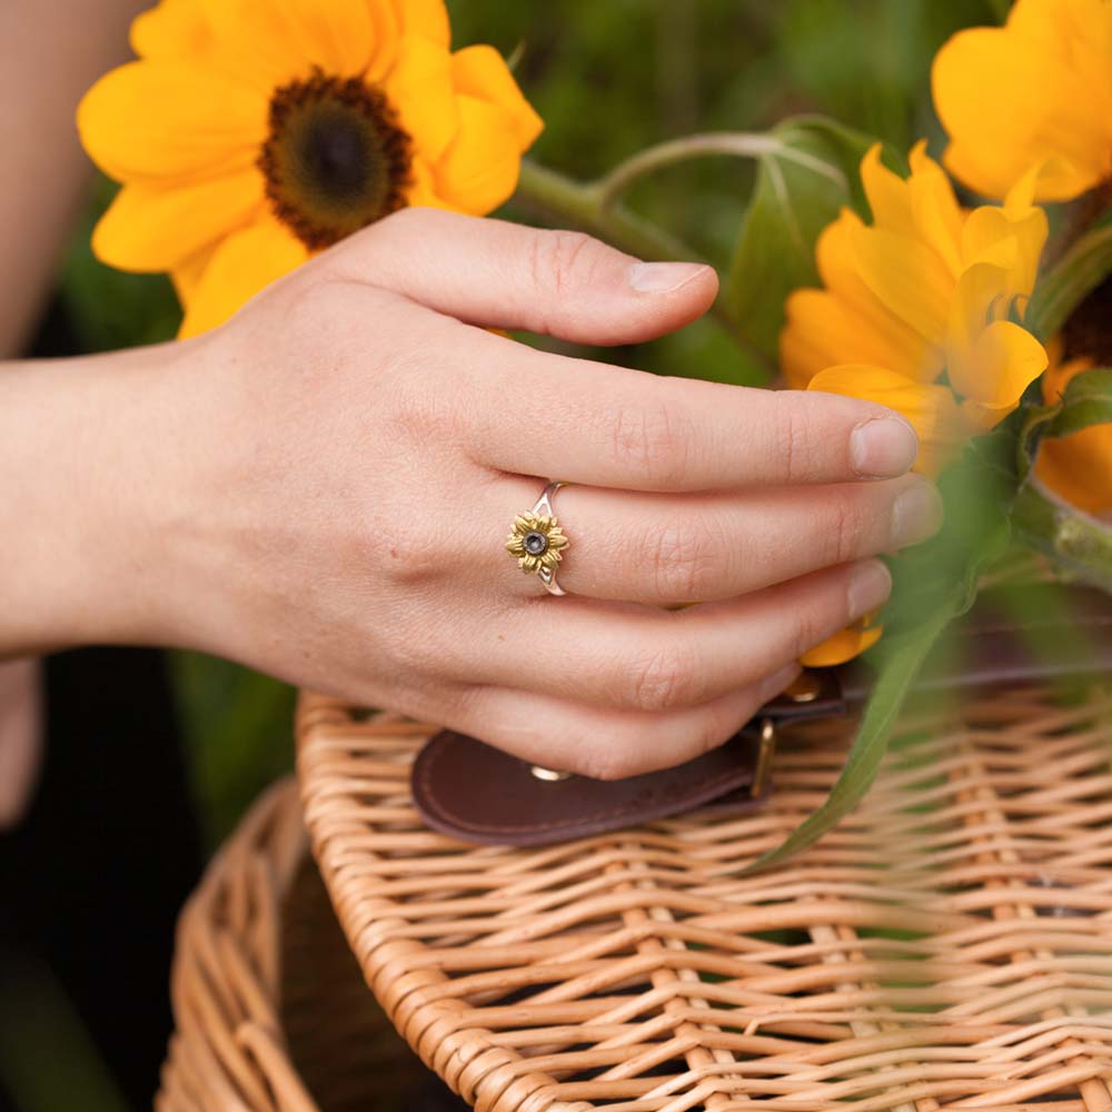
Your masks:
[[[639,259],[682,261],[698,258],[694,248],[643,220],[627,208],[604,205],[606,181],[607,179],[599,182],[574,181],[563,173],[524,159],[516,197],[538,215],[590,232]],[[721,294],[711,312],[746,351],[761,359],[745,341],[737,318]]]

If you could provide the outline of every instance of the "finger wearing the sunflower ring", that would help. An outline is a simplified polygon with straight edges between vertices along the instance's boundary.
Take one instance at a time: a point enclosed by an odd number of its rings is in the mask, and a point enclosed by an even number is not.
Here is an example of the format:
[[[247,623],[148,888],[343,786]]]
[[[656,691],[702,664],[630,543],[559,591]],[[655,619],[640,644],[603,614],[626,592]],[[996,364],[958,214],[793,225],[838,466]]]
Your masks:
[[[519,495],[510,494],[519,490]],[[498,486],[497,504],[528,506],[527,479]],[[483,514],[493,519],[492,508]],[[919,476],[887,483],[637,494],[573,486],[557,520],[570,545],[558,566],[575,595],[668,606],[732,598],[811,572],[895,552],[933,536],[942,502]],[[490,572],[502,566],[502,576]],[[489,582],[518,594],[536,583],[492,546]]]

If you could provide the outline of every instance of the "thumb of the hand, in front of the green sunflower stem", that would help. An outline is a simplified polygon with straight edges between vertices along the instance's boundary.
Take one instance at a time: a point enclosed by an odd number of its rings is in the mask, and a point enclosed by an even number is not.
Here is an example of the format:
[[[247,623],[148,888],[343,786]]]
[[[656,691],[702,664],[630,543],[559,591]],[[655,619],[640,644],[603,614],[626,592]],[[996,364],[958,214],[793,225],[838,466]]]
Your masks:
[[[702,316],[718,289],[704,264],[645,264],[582,232],[421,208],[351,236],[329,266],[469,324],[578,344],[663,336]]]

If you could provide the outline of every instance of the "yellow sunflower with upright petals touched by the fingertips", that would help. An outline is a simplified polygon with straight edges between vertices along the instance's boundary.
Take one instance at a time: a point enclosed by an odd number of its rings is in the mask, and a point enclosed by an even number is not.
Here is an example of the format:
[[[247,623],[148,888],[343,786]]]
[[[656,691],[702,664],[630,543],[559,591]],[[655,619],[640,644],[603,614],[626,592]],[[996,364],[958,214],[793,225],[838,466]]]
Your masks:
[[[935,476],[972,435],[1001,421],[1046,367],[1022,327],[1046,239],[1027,175],[1003,207],[964,211],[923,143],[911,176],[862,161],[873,214],[848,209],[818,239],[822,289],[794,292],[781,335],[790,386],[866,398],[906,417],[915,468]],[[803,658],[838,664],[881,636],[867,618]]]

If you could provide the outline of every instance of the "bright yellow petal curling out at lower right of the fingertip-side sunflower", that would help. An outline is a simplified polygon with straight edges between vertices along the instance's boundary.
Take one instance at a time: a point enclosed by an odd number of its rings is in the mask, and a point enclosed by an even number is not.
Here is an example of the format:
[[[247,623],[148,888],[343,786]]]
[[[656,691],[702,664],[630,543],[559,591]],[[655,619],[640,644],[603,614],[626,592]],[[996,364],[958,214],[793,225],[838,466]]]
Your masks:
[[[997,320],[977,337],[967,364],[951,367],[950,381],[966,399],[966,417],[987,429],[1020,404],[1048,361],[1046,349],[1029,331],[1011,320]]]

